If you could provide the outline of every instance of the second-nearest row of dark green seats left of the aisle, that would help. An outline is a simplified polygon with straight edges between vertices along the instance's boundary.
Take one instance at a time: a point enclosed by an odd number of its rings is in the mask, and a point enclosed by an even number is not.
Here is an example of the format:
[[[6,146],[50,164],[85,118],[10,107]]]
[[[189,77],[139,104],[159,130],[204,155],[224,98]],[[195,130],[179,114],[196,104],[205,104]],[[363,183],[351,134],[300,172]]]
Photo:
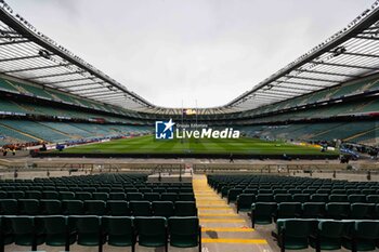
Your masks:
[[[197,208],[194,201],[125,201],[125,200],[36,200],[36,199],[2,199],[1,214],[93,214],[115,216],[196,216]]]

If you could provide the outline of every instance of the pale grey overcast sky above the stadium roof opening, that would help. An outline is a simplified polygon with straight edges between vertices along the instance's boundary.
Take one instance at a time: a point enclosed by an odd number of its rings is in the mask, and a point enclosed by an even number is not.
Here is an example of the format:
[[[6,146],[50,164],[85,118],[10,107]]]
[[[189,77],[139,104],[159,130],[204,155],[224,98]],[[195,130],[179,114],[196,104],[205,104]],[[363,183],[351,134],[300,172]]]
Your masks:
[[[158,106],[221,106],[374,0],[6,0],[73,53]]]

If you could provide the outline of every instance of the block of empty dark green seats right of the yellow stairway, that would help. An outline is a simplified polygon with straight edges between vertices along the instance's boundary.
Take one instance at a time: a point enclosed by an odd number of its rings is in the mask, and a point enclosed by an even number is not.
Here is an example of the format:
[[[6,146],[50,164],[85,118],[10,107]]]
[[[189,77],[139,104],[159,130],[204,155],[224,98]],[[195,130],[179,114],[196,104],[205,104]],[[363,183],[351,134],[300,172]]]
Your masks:
[[[280,251],[309,247],[317,251],[378,249],[377,182],[208,175],[208,183],[231,203],[236,199],[237,210],[251,211],[252,227],[275,222],[272,234]]]

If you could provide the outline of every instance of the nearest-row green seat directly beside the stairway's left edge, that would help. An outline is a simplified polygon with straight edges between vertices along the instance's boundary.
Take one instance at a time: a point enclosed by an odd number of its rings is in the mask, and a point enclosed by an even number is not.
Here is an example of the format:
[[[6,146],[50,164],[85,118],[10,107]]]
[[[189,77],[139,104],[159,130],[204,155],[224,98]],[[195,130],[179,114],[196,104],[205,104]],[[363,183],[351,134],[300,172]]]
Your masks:
[[[201,227],[197,217],[170,217],[168,220],[170,246],[177,248],[198,247],[201,252]]]

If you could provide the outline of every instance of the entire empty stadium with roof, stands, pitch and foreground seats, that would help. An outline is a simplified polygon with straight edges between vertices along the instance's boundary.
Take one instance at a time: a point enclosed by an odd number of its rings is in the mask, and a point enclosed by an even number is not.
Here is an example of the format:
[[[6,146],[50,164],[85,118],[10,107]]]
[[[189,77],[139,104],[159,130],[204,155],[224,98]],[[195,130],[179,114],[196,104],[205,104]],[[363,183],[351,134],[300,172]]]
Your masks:
[[[213,107],[155,105],[18,11],[0,0],[0,252],[379,251],[379,1]]]

